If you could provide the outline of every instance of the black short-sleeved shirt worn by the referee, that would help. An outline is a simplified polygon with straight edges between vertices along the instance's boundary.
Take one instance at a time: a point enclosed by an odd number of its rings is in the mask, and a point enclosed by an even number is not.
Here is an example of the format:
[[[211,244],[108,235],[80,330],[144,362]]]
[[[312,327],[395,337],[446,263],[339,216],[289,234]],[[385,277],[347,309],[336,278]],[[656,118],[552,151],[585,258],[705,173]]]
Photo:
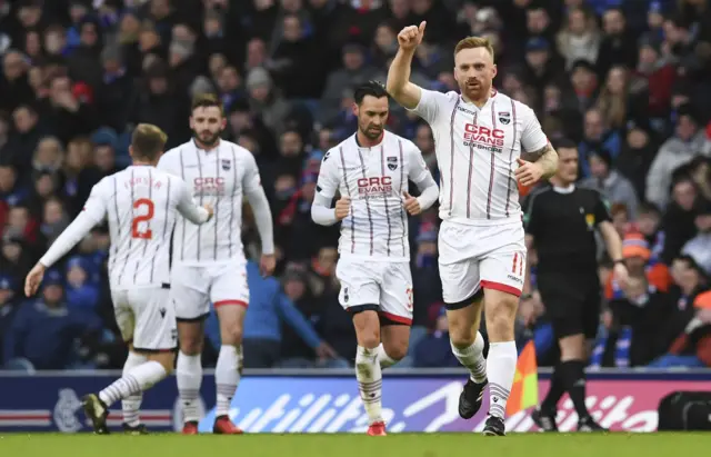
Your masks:
[[[533,236],[538,272],[598,272],[595,229],[611,220],[597,190],[547,186],[525,203],[525,232]]]

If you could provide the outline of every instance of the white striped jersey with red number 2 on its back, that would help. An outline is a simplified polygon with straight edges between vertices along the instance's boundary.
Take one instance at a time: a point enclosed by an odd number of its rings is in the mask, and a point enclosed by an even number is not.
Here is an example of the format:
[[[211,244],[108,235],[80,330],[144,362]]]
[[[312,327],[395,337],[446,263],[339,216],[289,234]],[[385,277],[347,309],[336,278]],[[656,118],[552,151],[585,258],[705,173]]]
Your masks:
[[[91,189],[82,212],[40,261],[53,265],[106,218],[111,289],[169,284],[170,236],[178,213],[196,222],[208,218],[180,179],[150,166],[128,167]]]

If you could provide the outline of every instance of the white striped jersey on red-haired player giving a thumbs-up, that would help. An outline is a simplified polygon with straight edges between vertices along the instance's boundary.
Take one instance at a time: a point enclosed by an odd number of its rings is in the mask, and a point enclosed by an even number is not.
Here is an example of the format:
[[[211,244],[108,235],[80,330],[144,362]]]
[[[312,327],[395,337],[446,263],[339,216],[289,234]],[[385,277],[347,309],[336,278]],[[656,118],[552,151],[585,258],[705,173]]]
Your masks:
[[[434,137],[440,218],[469,225],[521,220],[517,159],[548,143],[533,110],[495,91],[478,108],[454,91],[422,89],[412,111]]]

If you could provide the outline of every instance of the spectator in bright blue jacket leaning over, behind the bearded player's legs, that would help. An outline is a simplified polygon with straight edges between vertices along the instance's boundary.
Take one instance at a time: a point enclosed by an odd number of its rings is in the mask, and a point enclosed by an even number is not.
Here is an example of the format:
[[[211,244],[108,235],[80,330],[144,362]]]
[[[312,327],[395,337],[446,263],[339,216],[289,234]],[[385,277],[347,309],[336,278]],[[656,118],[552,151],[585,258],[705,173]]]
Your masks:
[[[283,294],[281,284],[271,277],[263,278],[259,265],[253,261],[247,262],[247,282],[249,309],[242,337],[246,368],[270,368],[279,361],[282,322],[291,326],[319,358],[336,356],[333,349],[319,337],[313,326]],[[212,345],[219,348],[220,331],[214,310],[210,312],[206,331]]]

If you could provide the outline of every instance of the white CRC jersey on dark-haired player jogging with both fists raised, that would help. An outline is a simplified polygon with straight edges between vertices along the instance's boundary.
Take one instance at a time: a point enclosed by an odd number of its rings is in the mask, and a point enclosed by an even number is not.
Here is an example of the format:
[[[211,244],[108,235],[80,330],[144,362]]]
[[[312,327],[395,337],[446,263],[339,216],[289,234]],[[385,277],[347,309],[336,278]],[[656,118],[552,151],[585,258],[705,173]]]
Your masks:
[[[401,261],[410,258],[408,216],[402,192],[408,180],[422,182],[430,173],[410,140],[385,131],[378,146],[363,148],[356,135],[330,149],[319,172],[317,191],[332,199],[336,191],[351,199],[341,221],[341,256]]]

